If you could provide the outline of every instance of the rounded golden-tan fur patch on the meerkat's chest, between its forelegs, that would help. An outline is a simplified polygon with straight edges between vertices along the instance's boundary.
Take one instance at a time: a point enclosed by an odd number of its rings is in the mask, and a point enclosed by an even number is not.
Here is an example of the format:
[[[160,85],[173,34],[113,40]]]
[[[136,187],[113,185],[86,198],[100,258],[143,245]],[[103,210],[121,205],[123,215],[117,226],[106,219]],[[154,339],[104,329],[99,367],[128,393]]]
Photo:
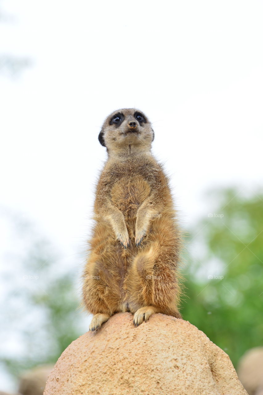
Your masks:
[[[123,177],[115,182],[111,190],[111,200],[125,217],[136,216],[137,209],[149,196],[150,185],[141,175]]]

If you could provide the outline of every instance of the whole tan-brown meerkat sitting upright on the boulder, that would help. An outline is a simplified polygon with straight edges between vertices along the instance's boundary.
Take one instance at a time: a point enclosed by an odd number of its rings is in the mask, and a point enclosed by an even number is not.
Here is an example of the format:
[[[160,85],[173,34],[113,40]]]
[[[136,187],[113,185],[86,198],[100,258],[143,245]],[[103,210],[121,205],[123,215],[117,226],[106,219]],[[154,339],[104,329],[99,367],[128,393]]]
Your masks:
[[[83,274],[90,331],[117,312],[137,327],[154,313],[181,318],[181,236],[169,180],[151,153],[152,126],[141,111],[110,114],[98,139],[108,158],[96,187],[94,228]]]

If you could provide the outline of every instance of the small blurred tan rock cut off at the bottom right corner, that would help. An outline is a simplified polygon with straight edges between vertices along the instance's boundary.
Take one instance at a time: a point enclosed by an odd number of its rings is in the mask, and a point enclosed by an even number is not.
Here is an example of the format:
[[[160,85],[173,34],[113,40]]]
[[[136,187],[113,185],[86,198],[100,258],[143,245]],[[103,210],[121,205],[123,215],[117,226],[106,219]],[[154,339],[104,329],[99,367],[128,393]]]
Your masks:
[[[249,395],[263,395],[263,347],[252,348],[242,356],[237,374]]]

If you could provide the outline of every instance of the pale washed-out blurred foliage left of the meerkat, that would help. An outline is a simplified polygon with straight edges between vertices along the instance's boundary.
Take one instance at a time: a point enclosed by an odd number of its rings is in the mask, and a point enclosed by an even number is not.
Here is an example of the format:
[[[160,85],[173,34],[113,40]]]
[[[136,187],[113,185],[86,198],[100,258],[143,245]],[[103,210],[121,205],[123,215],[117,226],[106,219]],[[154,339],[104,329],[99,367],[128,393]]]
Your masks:
[[[85,332],[85,316],[78,308],[76,265],[64,268],[51,243],[25,218],[11,213],[5,218],[11,243],[2,257],[0,363],[18,377],[24,369],[55,363]]]

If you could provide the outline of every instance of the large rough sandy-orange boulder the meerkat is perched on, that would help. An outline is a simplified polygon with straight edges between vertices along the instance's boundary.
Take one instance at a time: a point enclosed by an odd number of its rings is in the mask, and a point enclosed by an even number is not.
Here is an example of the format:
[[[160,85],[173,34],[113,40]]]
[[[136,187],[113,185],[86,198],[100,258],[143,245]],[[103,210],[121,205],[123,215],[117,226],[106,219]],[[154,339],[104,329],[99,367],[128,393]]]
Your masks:
[[[187,321],[152,315],[134,327],[131,313],[112,316],[62,353],[44,395],[243,395],[220,348]]]

